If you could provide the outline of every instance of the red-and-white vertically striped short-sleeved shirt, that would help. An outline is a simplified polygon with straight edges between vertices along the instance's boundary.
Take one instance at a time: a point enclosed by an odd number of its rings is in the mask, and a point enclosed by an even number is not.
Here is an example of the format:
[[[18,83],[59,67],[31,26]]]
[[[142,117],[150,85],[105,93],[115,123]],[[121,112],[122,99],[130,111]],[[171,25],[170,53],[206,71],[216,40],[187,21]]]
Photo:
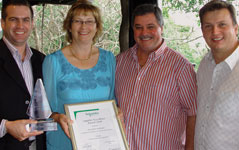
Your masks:
[[[183,150],[187,116],[196,113],[194,68],[165,42],[141,68],[137,48],[116,58],[115,94],[130,150]]]

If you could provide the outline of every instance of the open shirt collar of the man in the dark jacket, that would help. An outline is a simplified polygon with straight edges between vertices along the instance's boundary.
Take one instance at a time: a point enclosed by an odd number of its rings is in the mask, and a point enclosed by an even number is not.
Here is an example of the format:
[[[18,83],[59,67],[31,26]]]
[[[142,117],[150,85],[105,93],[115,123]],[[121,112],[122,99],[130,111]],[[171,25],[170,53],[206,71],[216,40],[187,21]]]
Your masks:
[[[18,50],[17,50],[17,48],[13,44],[11,44],[9,42],[9,40],[5,36],[3,36],[3,41],[7,45],[9,51],[11,52],[11,54],[13,56],[21,57],[19,52],[18,52]],[[26,44],[26,57],[25,57],[25,60],[30,60],[31,56],[32,56],[32,50],[29,47],[29,45]]]

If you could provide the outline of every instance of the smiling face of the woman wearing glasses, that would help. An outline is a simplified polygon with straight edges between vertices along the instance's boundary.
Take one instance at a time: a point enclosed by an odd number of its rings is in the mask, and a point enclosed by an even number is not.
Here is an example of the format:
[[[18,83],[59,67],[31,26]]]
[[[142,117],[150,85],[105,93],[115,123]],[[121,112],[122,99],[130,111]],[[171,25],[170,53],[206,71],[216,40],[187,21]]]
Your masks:
[[[92,12],[76,12],[71,25],[72,42],[92,42],[96,32],[96,22]]]

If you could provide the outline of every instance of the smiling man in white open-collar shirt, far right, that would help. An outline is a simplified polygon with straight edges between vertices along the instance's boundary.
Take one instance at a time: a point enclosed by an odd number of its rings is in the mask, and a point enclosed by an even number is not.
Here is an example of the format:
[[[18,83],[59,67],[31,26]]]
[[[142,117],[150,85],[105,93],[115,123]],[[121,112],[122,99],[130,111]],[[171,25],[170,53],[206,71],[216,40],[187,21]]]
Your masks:
[[[195,150],[239,149],[239,41],[235,8],[214,0],[199,12],[211,51],[197,72]]]

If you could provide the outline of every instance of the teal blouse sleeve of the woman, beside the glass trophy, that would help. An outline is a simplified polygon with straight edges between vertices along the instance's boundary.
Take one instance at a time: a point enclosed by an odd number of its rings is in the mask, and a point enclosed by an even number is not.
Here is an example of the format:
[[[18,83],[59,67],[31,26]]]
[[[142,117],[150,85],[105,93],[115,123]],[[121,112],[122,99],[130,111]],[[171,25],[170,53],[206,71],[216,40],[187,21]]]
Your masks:
[[[43,61],[43,81],[45,85],[46,95],[51,107],[52,112],[58,112],[57,103],[57,83],[56,83],[56,73],[57,73],[57,62],[54,55],[48,55]]]

